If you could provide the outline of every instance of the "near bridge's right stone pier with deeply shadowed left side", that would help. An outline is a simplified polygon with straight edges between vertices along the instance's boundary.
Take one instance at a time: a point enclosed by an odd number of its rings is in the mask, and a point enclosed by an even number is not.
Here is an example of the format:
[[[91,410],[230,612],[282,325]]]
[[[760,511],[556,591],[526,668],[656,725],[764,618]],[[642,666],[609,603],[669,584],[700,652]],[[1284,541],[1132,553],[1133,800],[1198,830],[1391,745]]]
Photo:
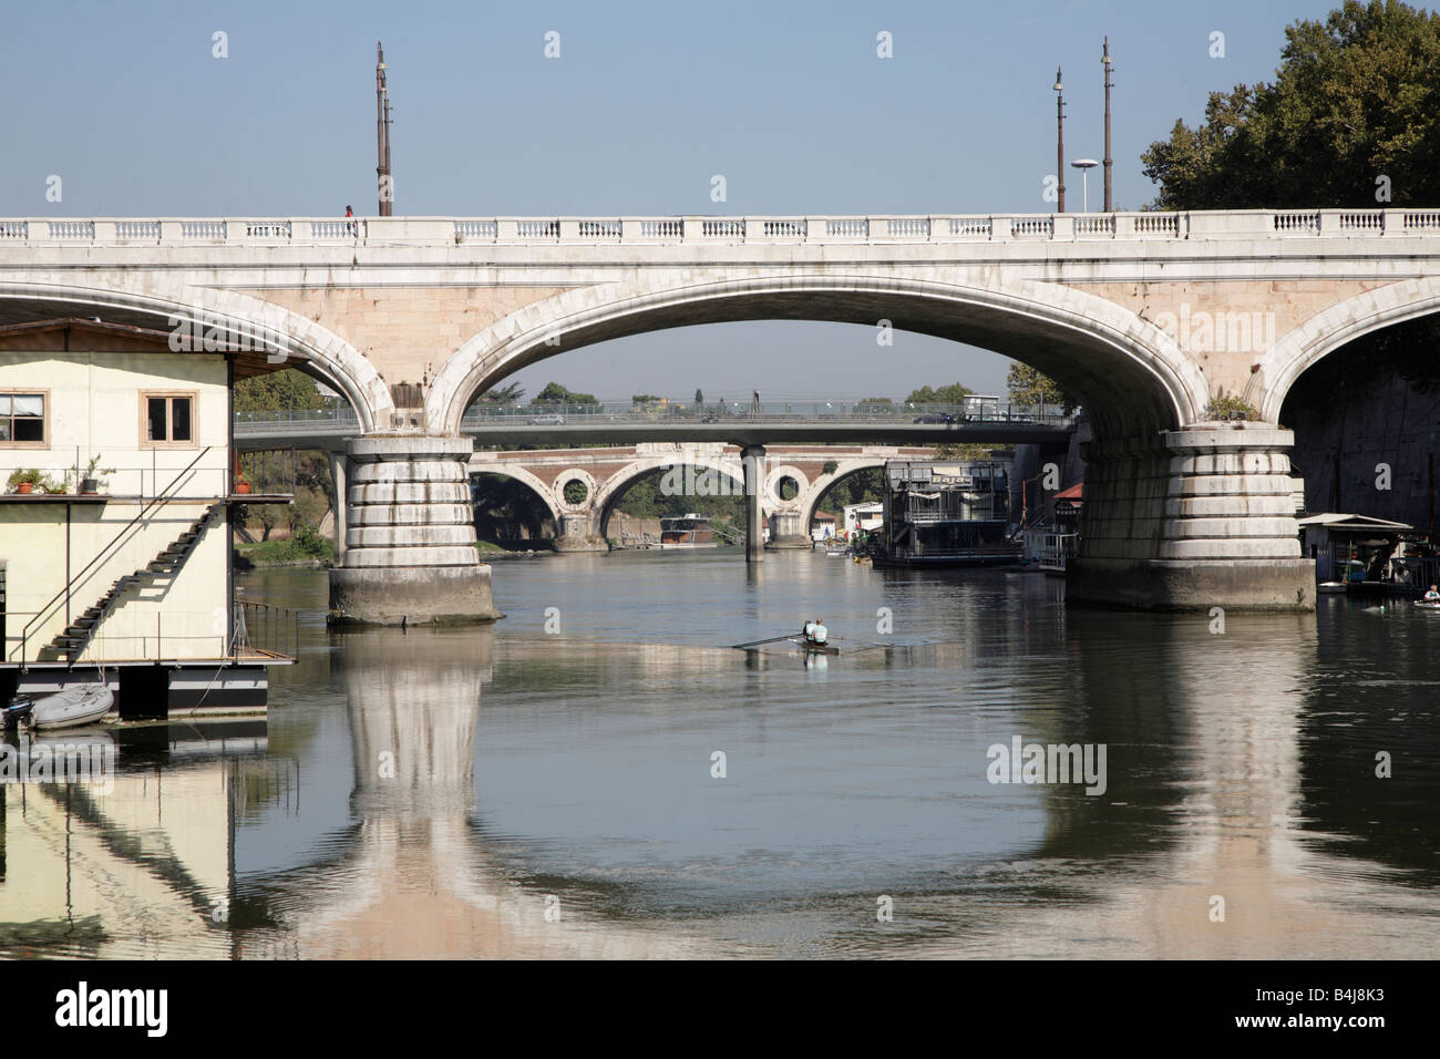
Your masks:
[[[1197,424],[1086,451],[1066,601],[1156,611],[1315,609],[1300,558],[1290,431]]]

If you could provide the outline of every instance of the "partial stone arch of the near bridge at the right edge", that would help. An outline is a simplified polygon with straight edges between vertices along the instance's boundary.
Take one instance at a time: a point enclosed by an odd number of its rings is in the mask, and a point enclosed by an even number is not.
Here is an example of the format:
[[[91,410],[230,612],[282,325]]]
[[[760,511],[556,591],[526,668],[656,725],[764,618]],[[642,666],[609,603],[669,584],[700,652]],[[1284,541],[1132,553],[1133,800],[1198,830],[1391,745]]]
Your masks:
[[[1250,376],[1244,401],[1279,422],[1290,388],[1322,359],[1371,331],[1440,311],[1440,277],[1378,287],[1316,313],[1283,336]]]

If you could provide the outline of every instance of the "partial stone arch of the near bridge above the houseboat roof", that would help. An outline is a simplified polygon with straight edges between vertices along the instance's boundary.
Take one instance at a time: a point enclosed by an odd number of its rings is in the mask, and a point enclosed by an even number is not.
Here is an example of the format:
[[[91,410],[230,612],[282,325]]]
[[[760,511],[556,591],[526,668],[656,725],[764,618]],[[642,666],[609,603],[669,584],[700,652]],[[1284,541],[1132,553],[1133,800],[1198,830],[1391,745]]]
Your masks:
[[[334,388],[354,408],[364,431],[389,425],[390,390],[364,354],[314,320],[248,294],[156,280],[108,287],[3,281],[0,308],[6,305],[39,316],[95,316],[95,310],[108,310],[109,323],[156,330],[173,330],[170,321],[176,318],[199,320],[268,356],[282,354],[294,362],[287,366]]]

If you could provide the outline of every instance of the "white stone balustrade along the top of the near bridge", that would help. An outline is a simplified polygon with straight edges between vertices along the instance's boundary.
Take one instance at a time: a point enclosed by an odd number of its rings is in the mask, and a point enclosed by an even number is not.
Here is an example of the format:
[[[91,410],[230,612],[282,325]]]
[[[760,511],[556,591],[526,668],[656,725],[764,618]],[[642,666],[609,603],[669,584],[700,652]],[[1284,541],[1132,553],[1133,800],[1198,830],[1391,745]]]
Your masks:
[[[792,218],[66,218],[0,220],[12,243],[935,243],[1440,238],[1440,209]]]

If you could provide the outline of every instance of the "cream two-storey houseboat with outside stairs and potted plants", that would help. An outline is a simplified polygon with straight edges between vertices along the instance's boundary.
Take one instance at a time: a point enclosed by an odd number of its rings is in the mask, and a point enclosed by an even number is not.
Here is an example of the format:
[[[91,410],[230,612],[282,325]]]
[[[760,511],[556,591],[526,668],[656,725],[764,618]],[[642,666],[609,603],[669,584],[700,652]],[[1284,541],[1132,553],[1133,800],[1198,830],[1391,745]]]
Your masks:
[[[264,709],[236,605],[230,388],[262,352],[98,318],[0,326],[0,706],[108,687],[121,718]],[[209,344],[209,343],[207,343]],[[239,496],[245,494],[245,496]]]

